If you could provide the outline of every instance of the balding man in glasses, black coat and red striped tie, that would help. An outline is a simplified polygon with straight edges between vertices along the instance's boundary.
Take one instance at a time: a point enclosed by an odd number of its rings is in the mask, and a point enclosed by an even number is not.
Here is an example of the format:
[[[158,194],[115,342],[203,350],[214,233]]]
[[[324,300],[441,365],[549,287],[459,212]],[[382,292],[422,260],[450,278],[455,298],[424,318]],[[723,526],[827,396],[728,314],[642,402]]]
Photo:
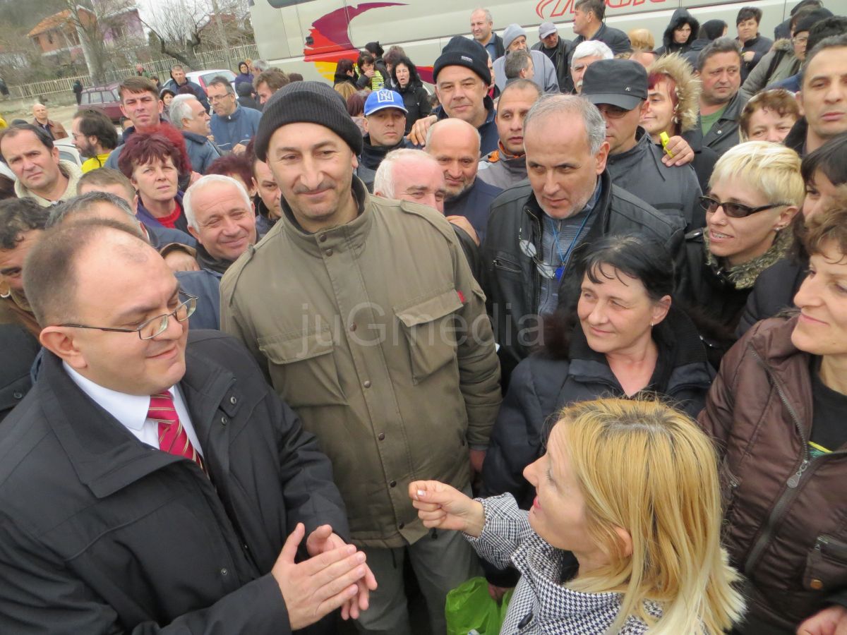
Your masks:
[[[47,354],[0,434],[0,632],[288,633],[357,616],[375,582],[341,538],[329,460],[252,357],[189,336],[194,301],[120,224],[43,240],[25,284]]]

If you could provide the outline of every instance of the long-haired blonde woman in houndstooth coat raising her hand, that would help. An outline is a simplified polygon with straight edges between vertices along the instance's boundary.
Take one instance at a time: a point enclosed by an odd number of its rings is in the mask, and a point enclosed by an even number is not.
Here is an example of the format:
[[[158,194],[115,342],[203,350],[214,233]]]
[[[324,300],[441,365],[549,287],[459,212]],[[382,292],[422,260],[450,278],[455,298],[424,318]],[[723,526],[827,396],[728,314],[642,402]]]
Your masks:
[[[462,531],[522,573],[502,633],[717,635],[739,621],[715,452],[684,414],[658,401],[569,406],[524,475],[529,512],[511,494],[409,486],[425,527]]]

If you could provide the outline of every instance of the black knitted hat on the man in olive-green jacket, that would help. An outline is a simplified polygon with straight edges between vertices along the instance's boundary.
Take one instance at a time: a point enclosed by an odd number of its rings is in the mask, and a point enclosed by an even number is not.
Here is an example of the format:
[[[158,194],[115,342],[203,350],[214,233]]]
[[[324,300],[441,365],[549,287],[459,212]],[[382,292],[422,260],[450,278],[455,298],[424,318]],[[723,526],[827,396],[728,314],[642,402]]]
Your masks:
[[[265,104],[256,133],[259,160],[268,160],[268,143],[278,128],[301,122],[329,128],[354,154],[362,154],[362,131],[347,113],[344,97],[320,81],[295,81],[276,91]]]

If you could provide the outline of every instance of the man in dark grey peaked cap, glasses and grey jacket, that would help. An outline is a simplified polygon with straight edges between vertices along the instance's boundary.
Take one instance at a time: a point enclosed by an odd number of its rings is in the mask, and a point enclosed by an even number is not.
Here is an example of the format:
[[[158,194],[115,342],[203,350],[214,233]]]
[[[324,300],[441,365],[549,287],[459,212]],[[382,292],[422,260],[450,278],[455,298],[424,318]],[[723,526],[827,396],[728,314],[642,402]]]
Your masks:
[[[646,69],[629,59],[601,59],[585,71],[582,96],[606,121],[606,169],[612,183],[661,213],[684,216],[687,230],[706,224],[694,168],[690,163],[678,167],[662,163],[662,148],[639,126],[649,108]]]

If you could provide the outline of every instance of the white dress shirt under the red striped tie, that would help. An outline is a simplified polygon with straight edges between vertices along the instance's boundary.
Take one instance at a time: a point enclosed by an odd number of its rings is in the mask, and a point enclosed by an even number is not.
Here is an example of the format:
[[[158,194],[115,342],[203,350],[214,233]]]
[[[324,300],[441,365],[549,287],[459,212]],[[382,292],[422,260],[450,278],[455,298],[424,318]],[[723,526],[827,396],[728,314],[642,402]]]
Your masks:
[[[91,379],[77,373],[66,362],[62,362],[62,365],[65,372],[80,387],[80,390],[91,397],[98,406],[116,418],[142,443],[158,448],[158,422],[147,418],[147,411],[150,409],[149,396],[126,395],[116,390],[103,388],[100,384],[95,384]],[[194,426],[191,425],[191,417],[188,415],[188,408],[185,407],[185,400],[182,398],[179,386],[174,384],[168,389],[168,392],[174,398],[176,414],[180,417],[180,422],[182,427],[185,428],[185,433],[188,434],[188,439],[197,453],[202,456],[203,450],[197,439],[197,433],[194,432]]]

